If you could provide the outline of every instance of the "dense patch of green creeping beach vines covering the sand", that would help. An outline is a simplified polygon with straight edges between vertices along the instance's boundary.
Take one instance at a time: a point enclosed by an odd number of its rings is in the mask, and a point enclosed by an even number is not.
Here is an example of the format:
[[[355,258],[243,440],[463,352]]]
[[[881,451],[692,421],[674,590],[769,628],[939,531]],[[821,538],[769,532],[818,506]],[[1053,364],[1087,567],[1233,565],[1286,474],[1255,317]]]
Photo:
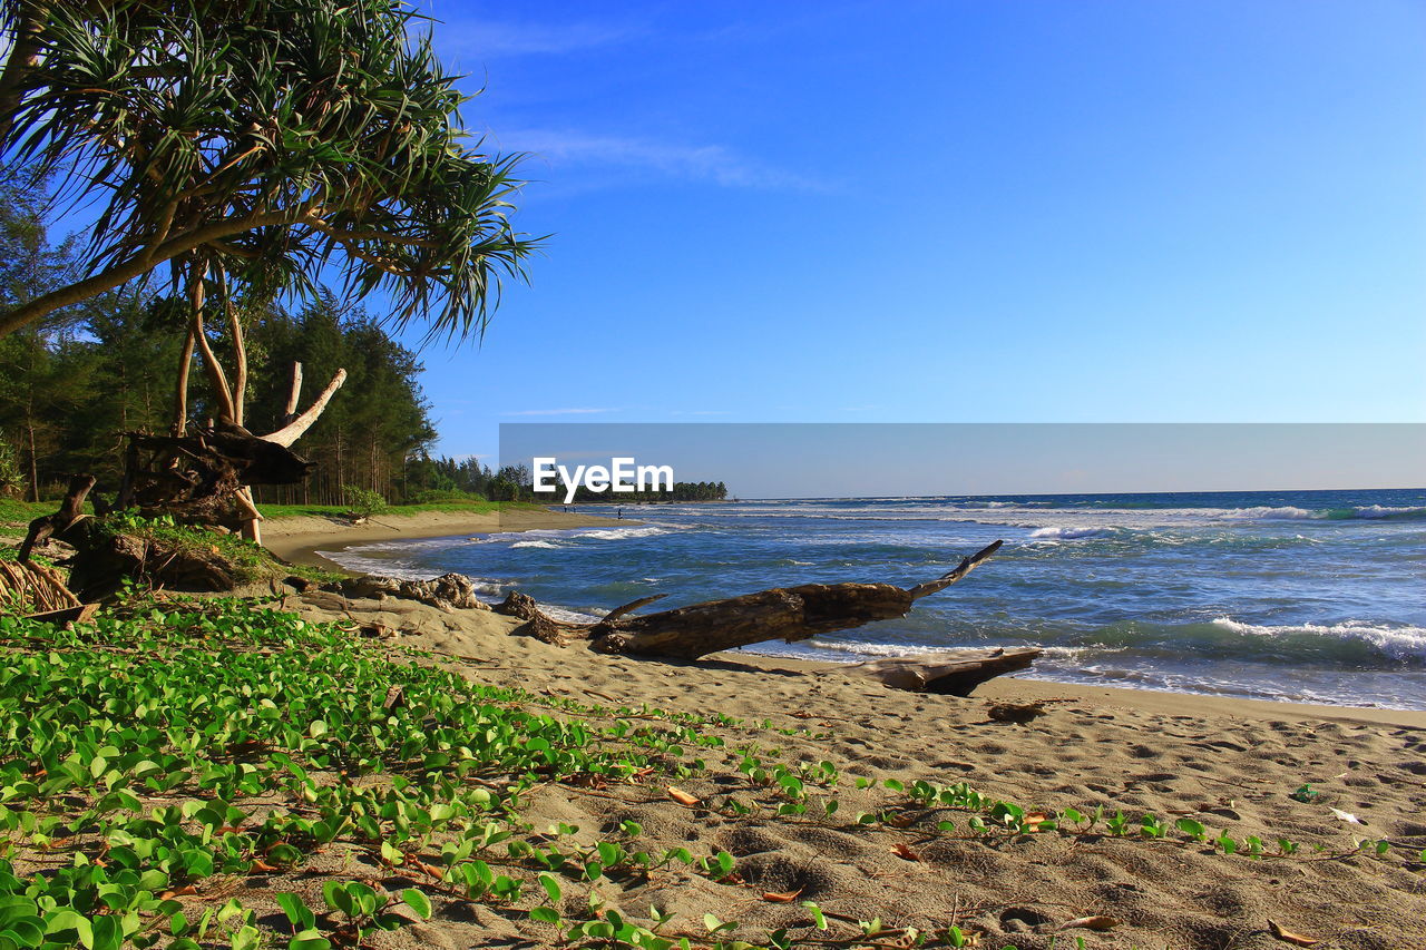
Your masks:
[[[241,902],[191,920],[173,894],[299,869],[332,847],[391,866],[432,847],[471,854],[509,837],[538,782],[649,766],[582,723],[516,708],[515,692],[244,602],[106,615],[73,632],[0,616],[0,643],[4,947],[255,949],[272,934]],[[465,880],[462,860],[446,863]],[[327,936],[308,921],[289,946],[404,923],[362,887],[334,882],[345,921]],[[429,916],[422,893],[404,900]]]

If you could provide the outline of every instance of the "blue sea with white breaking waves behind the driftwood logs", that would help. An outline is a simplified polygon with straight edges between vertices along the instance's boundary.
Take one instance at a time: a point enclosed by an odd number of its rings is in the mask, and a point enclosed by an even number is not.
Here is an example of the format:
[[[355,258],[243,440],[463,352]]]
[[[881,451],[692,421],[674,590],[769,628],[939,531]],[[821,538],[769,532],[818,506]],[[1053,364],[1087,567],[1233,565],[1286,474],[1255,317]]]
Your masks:
[[[580,505],[615,515],[615,506]],[[960,583],[884,620],[753,652],[864,660],[1040,646],[1032,679],[1426,709],[1426,489],[816,498],[625,506],[627,526],[364,545],[401,576],[456,571],[593,618],[771,586]]]

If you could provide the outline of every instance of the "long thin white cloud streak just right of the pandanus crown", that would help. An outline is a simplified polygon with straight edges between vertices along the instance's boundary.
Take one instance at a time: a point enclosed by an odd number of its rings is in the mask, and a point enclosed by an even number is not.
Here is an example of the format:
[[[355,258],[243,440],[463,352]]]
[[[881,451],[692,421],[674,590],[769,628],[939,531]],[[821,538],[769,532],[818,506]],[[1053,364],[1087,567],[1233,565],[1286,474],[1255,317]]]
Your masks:
[[[579,164],[637,168],[670,178],[712,181],[727,188],[824,191],[826,185],[739,154],[726,145],[687,145],[625,136],[556,128],[492,133],[502,150],[528,151],[552,165]]]

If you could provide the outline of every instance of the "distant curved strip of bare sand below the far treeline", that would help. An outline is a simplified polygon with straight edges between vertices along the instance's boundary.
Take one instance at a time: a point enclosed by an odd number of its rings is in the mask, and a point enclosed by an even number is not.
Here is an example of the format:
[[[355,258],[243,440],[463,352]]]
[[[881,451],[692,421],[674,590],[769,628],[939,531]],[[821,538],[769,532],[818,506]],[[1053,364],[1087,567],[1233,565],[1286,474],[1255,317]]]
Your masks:
[[[414,515],[388,514],[349,525],[329,518],[274,518],[262,522],[262,546],[284,561],[351,573],[322,556],[384,541],[426,541],[462,535],[493,535],[508,531],[562,531],[637,525],[630,518],[603,518],[573,512],[518,508],[513,511],[462,512],[425,511]]]

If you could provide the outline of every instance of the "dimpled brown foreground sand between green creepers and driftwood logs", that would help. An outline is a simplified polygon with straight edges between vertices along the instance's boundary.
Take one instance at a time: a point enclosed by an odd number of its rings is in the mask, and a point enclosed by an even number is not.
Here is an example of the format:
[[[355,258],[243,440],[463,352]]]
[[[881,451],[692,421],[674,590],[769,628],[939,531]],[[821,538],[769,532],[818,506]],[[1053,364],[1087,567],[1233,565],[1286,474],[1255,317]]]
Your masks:
[[[684,872],[655,874],[650,882],[602,880],[597,890],[607,906],[629,916],[646,920],[653,904],[677,914],[674,926],[702,931],[703,914],[713,913],[740,921],[747,927],[740,933],[752,936],[807,921],[800,902],[814,900],[834,914],[831,924],[841,937],[854,931],[848,920],[880,917],[887,926],[943,930],[955,923],[980,933],[978,946],[990,950],[1075,947],[1075,937],[1085,947],[1125,950],[1291,946],[1269,933],[1269,919],[1318,939],[1322,950],[1426,947],[1426,870],[1403,857],[1426,847],[1426,713],[1010,678],[970,699],[915,695],[853,679],[834,665],[743,652],[697,663],[602,656],[578,642],[559,648],[520,636],[516,620],[491,612],[443,613],[408,601],[334,602],[334,596],[292,595],[284,603],[311,619],[381,623],[399,633],[374,642],[431,650],[432,658],[419,662],[449,662],[472,680],[606,708],[649,705],[740,717],[739,726],[702,729],[720,737],[723,747],[684,749],[686,759],[706,762],[706,770],[677,783],[699,799],[732,793],[776,805],[774,790],[750,786],[737,770],[747,749],[757,749],[767,767],[826,760],[837,769],[840,809],[830,817],[820,803],[829,790],[811,782],[810,807],[800,817],[774,817],[771,807],[742,817],[684,807],[669,799],[666,780],[535,790],[525,814],[536,829],[565,822],[579,826],[576,837],[583,840],[635,820],[645,829],[640,849],[736,856],[743,886]],[[1031,725],[987,716],[991,700],[1030,698],[1051,700],[1048,713]],[[877,785],[858,790],[854,776]],[[888,779],[906,786],[968,782],[1030,809],[1088,813],[1104,806],[1111,814],[1122,809],[1135,819],[1135,832],[1145,812],[1169,824],[1192,819],[1211,837],[1225,829],[1238,840],[1253,834],[1271,853],[1286,837],[1299,842],[1301,852],[1255,860],[1214,853],[1204,843],[1137,834],[971,840],[957,837],[965,833],[964,812],[906,827],[858,824],[858,812],[906,802],[884,787]],[[1318,796],[1289,797],[1303,783]],[[940,817],[953,819],[958,830],[937,833]],[[1339,856],[1355,839],[1389,839],[1399,849],[1387,857]],[[378,879],[392,873],[369,870]],[[790,903],[763,897],[794,892]],[[583,899],[582,889],[566,889],[568,902]],[[1087,916],[1108,916],[1118,924],[1104,933],[1082,927],[1055,933]],[[434,947],[543,946],[550,933],[542,927],[518,914],[455,903],[394,939]]]

